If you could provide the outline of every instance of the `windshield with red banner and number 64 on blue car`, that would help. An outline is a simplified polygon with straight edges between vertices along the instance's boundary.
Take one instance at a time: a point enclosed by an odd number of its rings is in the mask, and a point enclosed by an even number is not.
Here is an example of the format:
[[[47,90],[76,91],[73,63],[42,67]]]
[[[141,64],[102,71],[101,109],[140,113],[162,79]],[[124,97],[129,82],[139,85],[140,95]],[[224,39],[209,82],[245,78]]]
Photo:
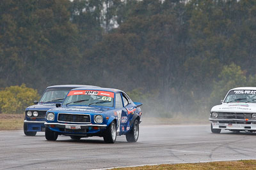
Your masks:
[[[63,105],[113,107],[113,101],[113,92],[105,92],[100,90],[72,90],[68,93]]]

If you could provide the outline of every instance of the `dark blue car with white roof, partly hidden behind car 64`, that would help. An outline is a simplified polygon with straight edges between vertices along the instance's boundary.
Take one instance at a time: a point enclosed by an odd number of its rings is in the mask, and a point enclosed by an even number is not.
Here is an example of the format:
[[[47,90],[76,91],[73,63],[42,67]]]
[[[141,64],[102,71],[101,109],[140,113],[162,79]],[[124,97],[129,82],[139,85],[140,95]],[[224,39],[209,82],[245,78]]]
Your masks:
[[[25,111],[24,134],[35,136],[36,132],[45,131],[45,113],[51,108],[56,108],[56,103],[62,103],[71,89],[77,87],[90,87],[86,85],[53,85],[47,87],[40,101],[29,106]]]

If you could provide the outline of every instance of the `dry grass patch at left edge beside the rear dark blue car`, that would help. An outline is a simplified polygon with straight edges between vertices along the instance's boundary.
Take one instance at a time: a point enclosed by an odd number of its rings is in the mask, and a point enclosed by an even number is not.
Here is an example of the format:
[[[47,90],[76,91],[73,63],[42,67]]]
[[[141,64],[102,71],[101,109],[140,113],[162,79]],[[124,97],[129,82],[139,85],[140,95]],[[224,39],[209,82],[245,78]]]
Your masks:
[[[0,131],[23,129],[23,114],[0,114]]]

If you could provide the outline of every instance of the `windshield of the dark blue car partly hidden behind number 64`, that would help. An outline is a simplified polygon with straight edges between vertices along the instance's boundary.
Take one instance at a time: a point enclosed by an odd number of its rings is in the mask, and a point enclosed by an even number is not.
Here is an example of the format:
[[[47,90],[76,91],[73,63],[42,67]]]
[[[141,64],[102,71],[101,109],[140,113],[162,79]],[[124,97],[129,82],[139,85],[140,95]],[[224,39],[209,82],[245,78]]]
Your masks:
[[[69,90],[72,88],[46,89],[39,103],[62,103]]]

